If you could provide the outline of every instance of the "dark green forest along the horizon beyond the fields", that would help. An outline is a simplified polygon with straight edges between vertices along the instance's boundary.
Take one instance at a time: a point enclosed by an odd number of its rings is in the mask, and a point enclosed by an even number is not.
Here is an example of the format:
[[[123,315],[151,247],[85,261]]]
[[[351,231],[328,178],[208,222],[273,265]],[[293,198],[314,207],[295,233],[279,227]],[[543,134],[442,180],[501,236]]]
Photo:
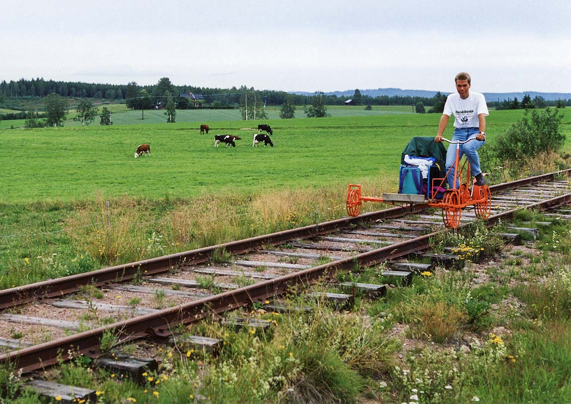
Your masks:
[[[152,86],[139,86],[136,82],[128,84],[96,84],[96,83],[83,83],[83,82],[58,82],[54,80],[44,80],[43,78],[37,79],[19,79],[17,81],[10,80],[6,82],[3,80],[0,83],[0,102],[3,103],[0,107],[9,108],[13,110],[25,111],[26,107],[22,103],[29,106],[30,101],[37,99],[41,101],[43,96],[55,92],[58,95],[68,98],[90,98],[94,102],[119,102],[126,103],[134,109],[140,109],[140,103],[134,100],[142,98],[142,94],[150,102],[144,103],[142,108],[151,108],[151,105],[159,103],[163,98],[165,92],[168,91],[175,99],[180,100],[177,102],[177,107],[180,109],[188,108],[188,98],[180,97],[182,94],[192,93],[196,96],[197,101],[207,108],[238,108],[243,103],[243,96],[245,92],[256,92],[256,95],[262,99],[262,102],[268,106],[278,106],[284,103],[286,96],[290,98],[290,103],[299,106],[312,104],[315,95],[299,95],[289,94],[285,91],[273,90],[254,90],[254,88],[242,86],[240,88],[210,88],[210,87],[194,87],[194,86],[175,86],[168,78],[162,78],[157,84]],[[446,94],[438,92],[433,97],[424,96],[402,96],[402,95],[380,95],[368,96],[362,95],[360,90],[355,90],[351,96],[337,96],[320,93],[323,96],[323,102],[326,105],[343,105],[348,99],[352,99],[353,105],[362,106],[416,106],[422,103],[423,106],[432,107],[428,112],[441,112]],[[3,96],[2,96],[3,95]],[[184,101],[184,102],[182,102]],[[502,101],[489,101],[490,107],[498,107],[502,109],[514,109],[522,107],[545,107],[557,106],[565,107],[571,105],[569,100],[546,101],[542,97],[534,98],[533,100],[525,100],[527,103],[513,102],[514,100]],[[41,102],[38,102],[41,105]],[[192,107],[192,106],[190,106]],[[41,109],[41,108],[40,108]]]

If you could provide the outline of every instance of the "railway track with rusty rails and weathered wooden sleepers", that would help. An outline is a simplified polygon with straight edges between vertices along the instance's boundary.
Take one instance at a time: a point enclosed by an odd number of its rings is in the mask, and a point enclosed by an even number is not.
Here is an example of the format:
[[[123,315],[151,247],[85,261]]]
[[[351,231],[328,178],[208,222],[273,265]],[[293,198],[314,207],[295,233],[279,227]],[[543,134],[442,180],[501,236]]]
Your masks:
[[[493,185],[489,225],[518,209],[571,203],[568,176],[571,170]],[[475,219],[463,211],[463,225]],[[178,324],[272,300],[356,264],[423,251],[444,230],[440,211],[397,207],[2,290],[0,362],[28,372],[66,360],[70,350],[97,357],[108,332],[121,342],[164,341]],[[104,297],[86,299],[96,288]],[[70,312],[76,319],[64,320]],[[109,313],[110,324],[89,321],[96,312]],[[9,335],[15,327],[28,327],[17,341]],[[38,344],[38,334],[47,341]]]

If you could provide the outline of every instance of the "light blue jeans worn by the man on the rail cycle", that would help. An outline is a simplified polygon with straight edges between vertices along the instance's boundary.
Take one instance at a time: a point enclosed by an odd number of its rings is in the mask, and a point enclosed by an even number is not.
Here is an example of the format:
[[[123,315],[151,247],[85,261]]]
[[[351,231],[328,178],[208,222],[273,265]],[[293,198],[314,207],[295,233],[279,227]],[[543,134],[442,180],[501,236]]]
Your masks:
[[[464,142],[464,140],[468,139],[475,139],[476,135],[480,132],[479,128],[456,128],[454,130],[454,134],[452,135],[452,141],[460,140]],[[454,165],[454,161],[456,160],[456,146],[460,147],[459,159],[462,156],[466,155],[468,162],[470,163],[470,171],[473,176],[478,175],[481,172],[480,169],[480,157],[478,157],[478,149],[484,146],[486,143],[485,140],[471,140],[468,143],[464,144],[450,144],[448,146],[448,152],[446,153],[446,172]],[[460,167],[457,168],[457,171]],[[460,181],[456,178],[456,187],[454,187],[454,170],[452,169],[451,172],[448,173],[448,186],[449,188],[459,188]],[[458,172],[456,172],[456,176]]]

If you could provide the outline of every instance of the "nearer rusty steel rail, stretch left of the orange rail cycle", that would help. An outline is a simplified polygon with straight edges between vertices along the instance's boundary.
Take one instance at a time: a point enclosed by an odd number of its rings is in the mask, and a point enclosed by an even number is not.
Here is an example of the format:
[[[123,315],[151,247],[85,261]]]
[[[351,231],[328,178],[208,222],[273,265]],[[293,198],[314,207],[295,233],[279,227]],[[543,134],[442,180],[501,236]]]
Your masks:
[[[202,320],[211,314],[226,312],[278,296],[286,292],[291,286],[309,285],[311,282],[331,276],[339,270],[351,270],[355,264],[370,266],[390,258],[426,249],[429,247],[430,237],[436,233],[429,233],[416,239],[343,258],[339,261],[332,261],[243,288],[229,290],[188,304],[160,310],[160,312],[134,317],[59,340],[3,354],[0,355],[0,363],[7,362],[15,366],[16,369],[33,371],[55,365],[62,360],[66,361],[69,359],[70,353],[71,355],[81,353],[95,357],[99,354],[99,344],[103,334],[109,332],[113,333],[120,342],[144,337],[166,338],[172,334],[171,329],[175,325],[188,324]]]

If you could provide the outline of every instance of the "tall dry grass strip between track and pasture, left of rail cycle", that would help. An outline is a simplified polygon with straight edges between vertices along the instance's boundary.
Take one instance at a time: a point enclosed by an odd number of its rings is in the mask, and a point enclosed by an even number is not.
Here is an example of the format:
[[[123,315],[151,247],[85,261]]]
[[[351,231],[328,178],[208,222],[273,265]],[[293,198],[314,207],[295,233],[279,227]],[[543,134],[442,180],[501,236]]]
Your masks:
[[[384,180],[364,183],[371,195]],[[98,196],[81,203],[4,210],[0,286],[9,288],[102,266],[139,261],[346,215],[345,187],[221,193],[158,201]],[[364,211],[381,208],[364,206]],[[22,234],[23,233],[23,234]]]

